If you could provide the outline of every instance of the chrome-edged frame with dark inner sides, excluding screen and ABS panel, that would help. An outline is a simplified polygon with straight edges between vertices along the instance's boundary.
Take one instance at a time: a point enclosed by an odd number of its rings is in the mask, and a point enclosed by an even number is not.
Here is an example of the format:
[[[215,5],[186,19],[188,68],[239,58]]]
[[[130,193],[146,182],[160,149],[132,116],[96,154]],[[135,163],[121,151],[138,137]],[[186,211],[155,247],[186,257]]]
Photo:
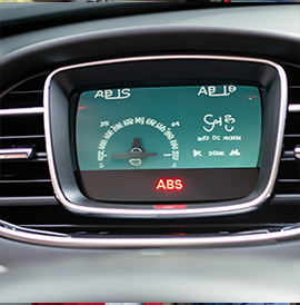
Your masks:
[[[209,72],[214,79],[236,79],[243,83],[258,83],[266,90],[263,99],[263,134],[261,145],[261,169],[254,190],[247,197],[219,203],[201,203],[177,206],[168,203],[166,208],[130,203],[103,203],[87,198],[79,189],[74,175],[74,160],[70,142],[69,99],[79,87],[88,88],[91,71],[97,75],[101,67],[149,62],[164,65],[170,61],[191,60],[212,65]],[[219,70],[218,68],[222,68]],[[231,68],[231,69],[223,69]],[[186,71],[187,73],[187,71]],[[221,76],[220,76],[221,75]],[[179,78],[180,76],[176,76]],[[282,148],[288,96],[287,76],[277,63],[264,59],[226,56],[170,55],[121,58],[63,67],[53,71],[44,85],[44,129],[48,163],[52,185],[58,200],[69,210],[83,215],[110,217],[198,217],[239,214],[252,210],[271,197]],[[271,105],[270,105],[271,104]],[[59,122],[59,124],[58,124]],[[63,148],[63,149],[61,149]],[[176,208],[178,207],[178,208]]]

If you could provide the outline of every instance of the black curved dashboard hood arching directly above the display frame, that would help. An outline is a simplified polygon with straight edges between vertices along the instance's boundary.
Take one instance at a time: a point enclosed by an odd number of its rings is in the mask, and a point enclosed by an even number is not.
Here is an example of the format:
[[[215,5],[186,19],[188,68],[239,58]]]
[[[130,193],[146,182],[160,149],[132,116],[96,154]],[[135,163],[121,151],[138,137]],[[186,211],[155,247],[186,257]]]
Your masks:
[[[88,24],[89,26],[89,24]],[[93,24],[91,24],[93,26]],[[66,37],[33,41],[28,45],[28,38],[20,37],[20,49],[8,49],[2,57],[2,72],[7,75],[1,79],[2,94],[12,83],[44,71],[52,71],[61,66],[81,63],[111,58],[153,55],[229,55],[251,58],[266,58],[274,62],[298,62],[299,42],[293,37],[266,32],[253,32],[240,29],[198,28],[156,26],[140,29],[113,29],[111,31],[92,31],[84,35],[66,32]],[[70,32],[70,35],[68,35]],[[37,32],[43,37],[43,31]],[[224,36],[227,37],[223,41]],[[180,37],[180,40],[179,40]],[[201,37],[201,39],[199,39]],[[220,41],[223,41],[219,50]],[[10,42],[10,40],[8,40]],[[120,46],[122,48],[120,49]],[[260,46],[258,49],[257,46]],[[271,46],[271,47],[270,47]],[[3,50],[6,49],[2,47]],[[18,46],[17,46],[18,48]],[[219,51],[218,51],[219,50]],[[34,60],[36,65],[31,65]],[[11,69],[18,69],[18,75],[11,75]]]

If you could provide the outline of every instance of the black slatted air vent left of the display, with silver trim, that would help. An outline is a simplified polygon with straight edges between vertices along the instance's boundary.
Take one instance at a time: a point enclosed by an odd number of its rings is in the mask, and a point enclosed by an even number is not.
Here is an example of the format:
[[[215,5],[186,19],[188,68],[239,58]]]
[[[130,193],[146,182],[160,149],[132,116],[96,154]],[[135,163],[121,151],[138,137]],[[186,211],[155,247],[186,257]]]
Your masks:
[[[54,203],[43,132],[42,90],[46,77],[31,78],[1,98],[2,206]]]

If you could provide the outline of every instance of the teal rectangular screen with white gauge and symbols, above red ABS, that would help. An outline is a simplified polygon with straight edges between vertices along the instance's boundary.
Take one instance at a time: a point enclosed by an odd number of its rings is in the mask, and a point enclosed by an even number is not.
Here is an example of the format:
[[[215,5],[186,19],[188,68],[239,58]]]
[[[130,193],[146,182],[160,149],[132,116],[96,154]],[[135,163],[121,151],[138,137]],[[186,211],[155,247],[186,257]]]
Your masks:
[[[261,120],[253,86],[86,91],[76,119],[79,169],[256,168]]]

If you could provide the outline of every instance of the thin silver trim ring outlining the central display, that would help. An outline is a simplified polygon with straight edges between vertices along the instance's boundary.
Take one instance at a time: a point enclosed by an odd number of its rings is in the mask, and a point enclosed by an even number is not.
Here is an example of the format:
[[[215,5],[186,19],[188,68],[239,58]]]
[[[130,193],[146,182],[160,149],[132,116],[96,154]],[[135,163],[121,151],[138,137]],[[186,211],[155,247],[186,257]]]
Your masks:
[[[281,82],[281,96],[280,96],[280,119],[278,125],[278,137],[276,142],[276,151],[273,158],[273,166],[271,169],[271,175],[269,183],[266,189],[261,193],[259,197],[256,199],[239,204],[239,205],[231,205],[231,206],[217,206],[217,207],[201,207],[201,208],[189,208],[189,209],[139,209],[139,208],[107,208],[107,207],[92,207],[92,206],[80,206],[68,200],[64,197],[62,190],[60,189],[58,177],[56,175],[56,167],[53,161],[53,151],[51,145],[51,129],[50,129],[50,111],[49,111],[49,89],[50,83],[54,75],[61,71],[82,68],[82,67],[91,67],[91,66],[100,66],[100,65],[109,65],[109,63],[119,63],[119,62],[129,62],[129,61],[142,61],[142,60],[168,60],[168,59],[213,59],[213,60],[236,60],[236,61],[248,61],[248,62],[260,62],[264,65],[272,66],[277,69],[280,82]],[[47,147],[47,155],[48,155],[48,163],[50,169],[50,176],[52,179],[52,185],[54,188],[54,193],[59,201],[64,205],[69,210],[78,213],[78,214],[90,214],[90,215],[103,215],[103,216],[129,216],[129,217],[147,217],[147,216],[172,216],[172,217],[182,217],[182,216],[220,216],[220,215],[229,215],[229,214],[238,214],[252,210],[262,201],[264,201],[268,197],[271,196],[272,187],[276,181],[277,168],[280,161],[281,155],[281,145],[283,139],[283,131],[284,131],[284,120],[286,120],[286,112],[287,112],[287,96],[288,96],[288,81],[287,76],[282,67],[279,65],[271,62],[264,59],[252,59],[252,58],[242,58],[242,57],[226,57],[226,56],[190,56],[190,55],[182,55],[182,56],[152,56],[152,57],[136,57],[136,58],[121,58],[121,59],[109,59],[109,60],[101,60],[96,62],[87,62],[87,63],[79,63],[69,67],[63,67],[60,69],[54,70],[49,75],[46,80],[44,85],[44,131],[46,131],[46,147]]]

